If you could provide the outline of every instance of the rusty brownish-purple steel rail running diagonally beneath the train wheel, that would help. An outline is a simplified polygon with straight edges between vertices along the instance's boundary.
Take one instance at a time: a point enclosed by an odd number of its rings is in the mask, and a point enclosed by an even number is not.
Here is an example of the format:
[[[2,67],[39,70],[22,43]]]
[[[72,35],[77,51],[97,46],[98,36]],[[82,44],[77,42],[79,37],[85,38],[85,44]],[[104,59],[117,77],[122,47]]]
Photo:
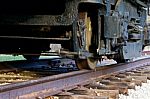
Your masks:
[[[91,83],[98,77],[150,65],[150,58],[127,64],[111,65],[96,70],[82,70],[0,87],[1,99],[33,99],[47,97]]]

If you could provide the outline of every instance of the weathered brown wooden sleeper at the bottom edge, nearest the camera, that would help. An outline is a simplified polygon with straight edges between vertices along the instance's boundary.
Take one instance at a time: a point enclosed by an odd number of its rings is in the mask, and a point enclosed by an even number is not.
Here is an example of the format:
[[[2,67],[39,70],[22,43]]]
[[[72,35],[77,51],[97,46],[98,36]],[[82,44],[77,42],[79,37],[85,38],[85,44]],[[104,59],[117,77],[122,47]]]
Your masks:
[[[73,95],[58,95],[59,99],[118,99],[118,90],[101,90],[101,89],[88,89],[85,87],[76,88],[72,91]]]

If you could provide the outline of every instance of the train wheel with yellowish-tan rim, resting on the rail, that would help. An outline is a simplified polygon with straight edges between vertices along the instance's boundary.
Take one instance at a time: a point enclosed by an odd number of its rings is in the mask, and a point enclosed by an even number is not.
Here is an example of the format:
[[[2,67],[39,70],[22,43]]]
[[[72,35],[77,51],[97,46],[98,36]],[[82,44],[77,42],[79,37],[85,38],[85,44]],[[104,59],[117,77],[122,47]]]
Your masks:
[[[84,24],[85,24],[85,50],[92,53],[91,52],[91,45],[93,44],[92,42],[92,25],[91,25],[91,19],[90,17],[87,16],[87,12],[82,12],[79,13],[79,18],[81,20],[84,20]],[[92,58],[92,57],[87,57],[86,59],[77,59],[76,60],[76,64],[78,66],[79,69],[95,69],[96,68],[96,64],[97,64],[97,60]]]

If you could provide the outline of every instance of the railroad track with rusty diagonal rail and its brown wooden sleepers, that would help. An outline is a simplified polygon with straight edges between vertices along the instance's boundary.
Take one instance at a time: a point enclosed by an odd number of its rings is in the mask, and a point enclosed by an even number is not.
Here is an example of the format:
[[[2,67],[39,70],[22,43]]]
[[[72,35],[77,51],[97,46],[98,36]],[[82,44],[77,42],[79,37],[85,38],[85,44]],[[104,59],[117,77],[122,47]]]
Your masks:
[[[150,77],[148,65],[150,65],[149,58],[96,70],[74,71],[4,85],[0,87],[0,97],[2,99],[53,99],[54,97],[116,99],[119,94],[128,94],[128,89],[134,89],[136,85],[147,82]]]

